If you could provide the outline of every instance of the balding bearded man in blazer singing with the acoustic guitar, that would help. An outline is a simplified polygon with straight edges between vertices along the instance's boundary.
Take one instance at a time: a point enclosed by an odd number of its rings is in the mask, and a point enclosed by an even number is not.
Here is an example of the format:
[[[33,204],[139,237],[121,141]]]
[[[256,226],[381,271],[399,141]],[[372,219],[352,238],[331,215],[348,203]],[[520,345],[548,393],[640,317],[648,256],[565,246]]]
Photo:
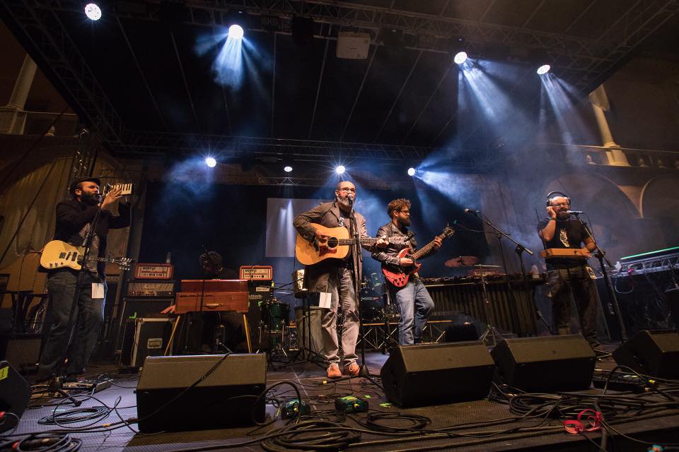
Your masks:
[[[356,231],[359,237],[368,237],[366,219],[354,210],[352,218],[352,206],[356,199],[356,186],[349,181],[340,182],[335,188],[335,201],[322,203],[306,213],[297,215],[293,225],[297,232],[309,240],[326,240],[329,237],[316,229],[311,223],[317,223],[325,227],[347,227],[351,231],[351,222],[355,221]],[[380,240],[378,247],[386,246],[384,240]],[[368,251],[373,246],[366,246]],[[363,256],[359,254],[359,274],[357,280],[361,280]],[[340,378],[340,364],[342,359],[339,355],[339,343],[337,340],[337,307],[342,306],[342,353],[344,360],[344,374],[357,376],[360,367],[356,364],[356,342],[359,338],[359,309],[356,303],[354,290],[353,256],[350,252],[346,258],[327,258],[319,263],[306,266],[304,270],[304,287],[309,292],[329,293],[330,309],[323,309],[321,327],[323,333],[323,352],[328,362],[327,376],[331,379]]]

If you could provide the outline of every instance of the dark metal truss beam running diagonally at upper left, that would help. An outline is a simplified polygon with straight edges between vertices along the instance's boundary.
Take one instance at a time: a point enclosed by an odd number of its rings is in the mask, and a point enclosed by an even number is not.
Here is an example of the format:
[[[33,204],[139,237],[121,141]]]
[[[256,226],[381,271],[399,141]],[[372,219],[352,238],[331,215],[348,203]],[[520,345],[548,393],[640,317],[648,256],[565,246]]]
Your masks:
[[[109,143],[121,143],[124,134],[122,119],[108,100],[97,78],[71,40],[57,11],[44,8],[40,1],[5,0],[1,11],[15,30],[28,40],[37,54],[31,56],[45,61],[45,71],[54,76],[66,90],[64,97],[71,102],[81,120],[97,129]]]

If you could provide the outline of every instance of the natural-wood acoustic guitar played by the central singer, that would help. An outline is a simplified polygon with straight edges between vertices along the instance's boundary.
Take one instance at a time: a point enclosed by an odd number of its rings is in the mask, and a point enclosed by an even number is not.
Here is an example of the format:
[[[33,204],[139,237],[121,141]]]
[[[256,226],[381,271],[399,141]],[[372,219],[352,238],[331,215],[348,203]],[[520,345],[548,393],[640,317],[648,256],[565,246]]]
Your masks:
[[[349,254],[349,246],[354,244],[354,239],[349,238],[349,230],[346,227],[325,227],[318,223],[309,223],[315,229],[327,235],[326,240],[314,239],[309,242],[297,234],[295,243],[295,256],[305,266],[311,266],[327,258],[343,259]],[[395,244],[405,244],[405,237],[391,237],[389,240]],[[378,239],[373,237],[359,238],[361,245],[376,244]]]

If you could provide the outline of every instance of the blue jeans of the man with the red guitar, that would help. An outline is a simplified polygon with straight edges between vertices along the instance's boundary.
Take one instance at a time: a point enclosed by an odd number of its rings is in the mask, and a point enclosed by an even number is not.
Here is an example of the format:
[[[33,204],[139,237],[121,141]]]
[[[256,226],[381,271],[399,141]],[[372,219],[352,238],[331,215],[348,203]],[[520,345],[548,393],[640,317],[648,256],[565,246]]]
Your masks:
[[[422,330],[434,311],[434,300],[431,299],[424,284],[418,278],[410,277],[403,287],[390,285],[389,296],[395,300],[399,314],[398,343],[410,345],[419,343]]]

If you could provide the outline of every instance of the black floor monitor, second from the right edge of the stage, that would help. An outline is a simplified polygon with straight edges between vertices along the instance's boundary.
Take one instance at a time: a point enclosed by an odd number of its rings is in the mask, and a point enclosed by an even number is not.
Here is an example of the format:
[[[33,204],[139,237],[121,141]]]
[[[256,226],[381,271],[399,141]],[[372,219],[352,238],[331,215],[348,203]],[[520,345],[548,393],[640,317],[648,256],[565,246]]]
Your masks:
[[[526,392],[591,386],[596,354],[579,334],[504,339],[490,352],[502,379]]]

